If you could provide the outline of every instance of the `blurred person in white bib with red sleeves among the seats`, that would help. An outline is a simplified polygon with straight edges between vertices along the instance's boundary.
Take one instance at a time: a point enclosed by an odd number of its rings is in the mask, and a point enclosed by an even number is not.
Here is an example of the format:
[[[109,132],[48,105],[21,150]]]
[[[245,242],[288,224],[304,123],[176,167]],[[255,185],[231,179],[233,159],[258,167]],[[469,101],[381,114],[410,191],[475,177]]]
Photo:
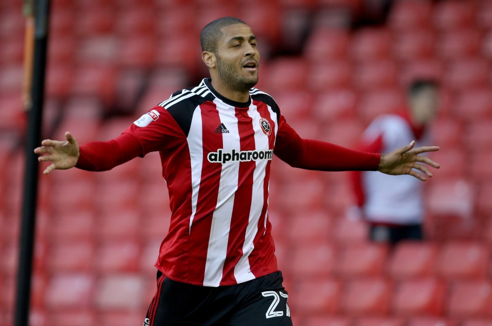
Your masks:
[[[430,141],[429,124],[439,107],[435,80],[416,79],[406,93],[407,107],[395,114],[377,117],[365,130],[360,150],[386,153],[415,140],[418,146]],[[422,185],[406,176],[395,179],[371,171],[351,172],[357,200],[350,215],[369,224],[369,238],[395,245],[402,240],[423,240],[424,203]]]

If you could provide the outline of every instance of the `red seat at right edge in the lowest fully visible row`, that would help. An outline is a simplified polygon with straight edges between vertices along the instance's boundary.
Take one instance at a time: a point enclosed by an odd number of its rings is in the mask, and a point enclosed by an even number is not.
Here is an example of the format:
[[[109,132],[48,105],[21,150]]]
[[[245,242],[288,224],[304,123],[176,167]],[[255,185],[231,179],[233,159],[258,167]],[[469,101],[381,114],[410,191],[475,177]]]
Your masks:
[[[450,289],[447,315],[456,318],[492,317],[492,284],[490,281],[456,282]]]

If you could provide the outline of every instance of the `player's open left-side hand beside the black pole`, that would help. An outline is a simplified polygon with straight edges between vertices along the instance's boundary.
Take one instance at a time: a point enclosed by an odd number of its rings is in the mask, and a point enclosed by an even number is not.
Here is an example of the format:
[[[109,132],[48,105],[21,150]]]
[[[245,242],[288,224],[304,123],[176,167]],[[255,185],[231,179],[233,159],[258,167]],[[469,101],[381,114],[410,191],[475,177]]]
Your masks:
[[[48,175],[54,169],[66,170],[77,164],[80,149],[75,138],[69,132],[65,133],[65,141],[45,139],[41,147],[34,149],[35,154],[40,154],[39,162],[51,162],[43,171]]]

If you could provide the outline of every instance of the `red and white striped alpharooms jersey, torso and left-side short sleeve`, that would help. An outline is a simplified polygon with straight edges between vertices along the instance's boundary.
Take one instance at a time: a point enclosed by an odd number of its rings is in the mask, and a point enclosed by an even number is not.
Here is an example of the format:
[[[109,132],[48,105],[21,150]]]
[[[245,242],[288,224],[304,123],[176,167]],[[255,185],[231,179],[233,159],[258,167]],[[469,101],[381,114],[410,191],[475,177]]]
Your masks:
[[[277,270],[268,194],[280,114],[269,95],[250,95],[228,100],[204,79],[126,131],[144,155],[160,151],[172,216],[156,267],[171,279],[216,287]]]

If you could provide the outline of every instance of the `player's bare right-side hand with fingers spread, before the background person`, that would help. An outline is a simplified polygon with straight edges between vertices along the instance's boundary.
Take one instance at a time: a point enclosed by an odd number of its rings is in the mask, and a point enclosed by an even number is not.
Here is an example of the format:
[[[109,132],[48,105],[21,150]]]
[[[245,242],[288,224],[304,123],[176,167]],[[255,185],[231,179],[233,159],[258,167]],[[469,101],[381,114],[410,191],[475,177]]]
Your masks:
[[[427,178],[414,169],[422,171],[427,177],[432,178],[432,173],[426,166],[421,163],[425,163],[435,168],[439,168],[440,165],[428,157],[421,156],[419,154],[427,153],[429,151],[437,151],[437,146],[424,146],[413,148],[415,141],[412,141],[409,145],[395,149],[391,153],[381,155],[379,161],[378,171],[386,173],[387,175],[411,175],[419,180],[425,181]]]

